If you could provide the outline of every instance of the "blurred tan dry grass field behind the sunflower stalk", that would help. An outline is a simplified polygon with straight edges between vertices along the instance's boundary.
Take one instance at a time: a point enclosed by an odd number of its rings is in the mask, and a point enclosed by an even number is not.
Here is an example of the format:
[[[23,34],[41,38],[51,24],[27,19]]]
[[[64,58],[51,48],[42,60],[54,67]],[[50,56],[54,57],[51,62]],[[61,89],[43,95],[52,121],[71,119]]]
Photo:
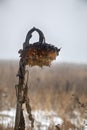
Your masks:
[[[0,61],[0,110],[16,106],[17,71],[17,61]],[[87,103],[87,65],[61,63],[50,68],[32,67],[29,72],[29,97],[33,110],[54,110],[63,119],[67,115],[72,118],[74,109],[84,115],[84,108],[75,106],[72,94],[78,96],[81,103]]]

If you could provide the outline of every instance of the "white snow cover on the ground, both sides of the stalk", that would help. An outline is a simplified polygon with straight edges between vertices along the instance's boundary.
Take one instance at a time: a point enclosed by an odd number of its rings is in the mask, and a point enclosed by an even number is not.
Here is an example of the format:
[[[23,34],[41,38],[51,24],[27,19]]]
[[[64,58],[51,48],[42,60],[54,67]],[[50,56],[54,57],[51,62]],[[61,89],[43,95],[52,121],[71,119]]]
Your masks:
[[[74,112],[74,114],[76,115],[77,118],[71,120],[71,122],[74,123],[75,125],[78,125],[77,120],[79,120],[80,124],[83,125],[84,130],[87,130],[87,120],[84,119],[80,120],[78,112]],[[24,115],[25,115],[25,121],[27,127],[30,125],[30,122],[28,120],[28,116],[25,111],[24,111]],[[46,130],[49,126],[63,124],[63,120],[54,111],[37,110],[37,111],[33,111],[32,115],[35,119],[34,121],[35,130],[38,130],[39,127],[40,130]],[[0,124],[3,124],[6,127],[7,126],[14,127],[14,123],[15,123],[15,109],[4,110],[0,112]]]

